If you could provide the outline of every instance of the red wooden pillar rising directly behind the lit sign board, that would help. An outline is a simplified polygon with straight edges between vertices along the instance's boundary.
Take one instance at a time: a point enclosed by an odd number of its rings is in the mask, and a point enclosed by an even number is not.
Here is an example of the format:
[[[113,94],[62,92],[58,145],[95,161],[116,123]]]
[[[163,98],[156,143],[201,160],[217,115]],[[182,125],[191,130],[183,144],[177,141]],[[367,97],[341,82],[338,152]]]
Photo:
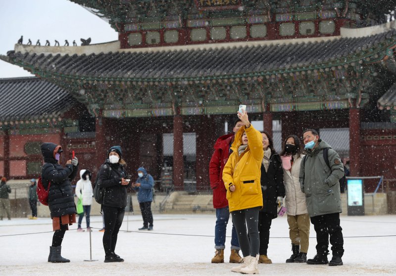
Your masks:
[[[360,110],[349,108],[349,174],[360,175]]]

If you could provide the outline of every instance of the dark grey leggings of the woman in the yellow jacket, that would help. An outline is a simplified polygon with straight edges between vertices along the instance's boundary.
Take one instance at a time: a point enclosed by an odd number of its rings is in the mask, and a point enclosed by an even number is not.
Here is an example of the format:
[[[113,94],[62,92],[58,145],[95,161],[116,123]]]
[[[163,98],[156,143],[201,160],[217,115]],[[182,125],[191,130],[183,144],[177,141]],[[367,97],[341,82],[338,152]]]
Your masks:
[[[258,254],[260,238],[258,236],[258,210],[260,207],[232,211],[232,222],[238,234],[239,246],[244,257]],[[249,234],[249,235],[247,235]]]

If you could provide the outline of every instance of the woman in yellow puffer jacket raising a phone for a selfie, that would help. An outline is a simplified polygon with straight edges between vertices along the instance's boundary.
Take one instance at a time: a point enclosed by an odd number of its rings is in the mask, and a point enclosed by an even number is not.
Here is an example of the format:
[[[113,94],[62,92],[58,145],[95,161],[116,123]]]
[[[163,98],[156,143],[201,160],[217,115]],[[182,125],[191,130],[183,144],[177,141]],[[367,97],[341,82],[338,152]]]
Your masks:
[[[238,112],[238,117],[245,126],[235,135],[231,145],[233,153],[223,170],[228,205],[244,255],[244,262],[231,271],[258,274],[258,211],[263,206],[260,184],[264,154],[262,135],[250,125],[245,110]]]

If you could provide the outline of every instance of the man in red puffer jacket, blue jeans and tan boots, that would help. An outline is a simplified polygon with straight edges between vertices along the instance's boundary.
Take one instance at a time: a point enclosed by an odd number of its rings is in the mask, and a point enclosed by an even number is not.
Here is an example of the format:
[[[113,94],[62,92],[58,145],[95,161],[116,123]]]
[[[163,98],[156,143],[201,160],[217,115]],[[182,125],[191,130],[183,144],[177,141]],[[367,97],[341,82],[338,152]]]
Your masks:
[[[240,119],[234,123],[233,134],[223,135],[217,139],[214,144],[214,152],[209,163],[209,178],[210,187],[213,190],[213,208],[216,209],[216,226],[214,228],[214,248],[215,255],[212,258],[212,263],[224,263],[224,249],[226,242],[226,229],[228,220],[230,218],[230,211],[228,208],[228,200],[226,199],[227,190],[223,183],[223,168],[227,163],[230,151],[232,152],[231,144],[234,141],[234,136],[238,130],[244,126]],[[239,263],[242,259],[239,255],[239,242],[237,231],[234,224],[232,225],[231,235],[231,255],[230,263]]]

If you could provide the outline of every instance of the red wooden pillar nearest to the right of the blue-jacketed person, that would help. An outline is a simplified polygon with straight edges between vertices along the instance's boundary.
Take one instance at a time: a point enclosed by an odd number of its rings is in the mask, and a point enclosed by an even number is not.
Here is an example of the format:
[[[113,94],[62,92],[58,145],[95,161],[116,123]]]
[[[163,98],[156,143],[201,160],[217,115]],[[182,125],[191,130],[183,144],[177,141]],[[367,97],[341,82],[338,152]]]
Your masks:
[[[184,189],[183,117],[173,117],[173,184],[175,190]]]

